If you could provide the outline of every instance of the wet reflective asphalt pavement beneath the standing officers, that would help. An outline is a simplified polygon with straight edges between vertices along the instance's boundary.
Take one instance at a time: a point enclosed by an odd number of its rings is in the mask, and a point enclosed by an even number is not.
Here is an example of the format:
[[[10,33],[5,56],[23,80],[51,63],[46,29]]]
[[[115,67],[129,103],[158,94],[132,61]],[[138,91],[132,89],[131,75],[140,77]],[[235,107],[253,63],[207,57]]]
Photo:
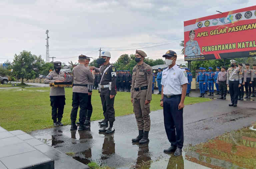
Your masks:
[[[206,142],[256,121],[255,101],[239,101],[238,107],[229,107],[229,103],[228,99],[213,99],[185,106],[184,147]],[[116,131],[113,134],[99,134],[98,121],[93,121],[90,131],[71,132],[70,126],[59,126],[37,130],[31,135],[61,152],[71,154],[74,159],[84,164],[93,161],[114,168],[195,168],[198,165],[196,160],[186,159],[187,156],[199,158],[194,152],[183,152],[180,157],[163,153],[163,149],[170,146],[163,124],[163,110],[151,112],[150,116],[150,142],[145,145],[131,142],[138,135],[134,114],[116,117]]]

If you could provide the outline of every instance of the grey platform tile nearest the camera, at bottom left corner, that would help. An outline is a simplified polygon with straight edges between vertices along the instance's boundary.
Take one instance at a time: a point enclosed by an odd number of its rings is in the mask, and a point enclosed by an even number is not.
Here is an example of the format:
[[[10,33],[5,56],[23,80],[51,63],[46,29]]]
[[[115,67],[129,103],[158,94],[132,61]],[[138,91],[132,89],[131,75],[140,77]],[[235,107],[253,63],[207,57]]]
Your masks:
[[[49,163],[52,166],[54,160],[47,157],[45,154],[41,153],[38,150],[26,152],[23,154],[17,154],[9,157],[0,158],[2,163],[8,169],[17,169],[17,168],[28,168],[32,165]],[[54,166],[54,165],[53,165]],[[52,168],[54,169],[54,168]]]

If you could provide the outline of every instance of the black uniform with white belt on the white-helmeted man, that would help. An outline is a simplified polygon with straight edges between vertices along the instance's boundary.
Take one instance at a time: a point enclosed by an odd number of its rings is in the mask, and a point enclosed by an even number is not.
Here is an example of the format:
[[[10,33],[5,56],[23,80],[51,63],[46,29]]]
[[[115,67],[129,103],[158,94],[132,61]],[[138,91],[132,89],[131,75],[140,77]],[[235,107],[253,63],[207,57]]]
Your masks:
[[[100,98],[101,98],[103,115],[105,117],[105,121],[114,122],[115,121],[115,109],[114,109],[115,97],[110,99],[110,95],[116,95],[116,77],[117,77],[116,68],[108,64],[106,66],[102,65],[99,69],[95,68],[95,71],[100,72],[100,77],[101,77],[101,81],[99,83],[101,85]],[[111,83],[111,90],[109,89],[109,87],[103,86],[103,85],[109,85],[110,83]]]

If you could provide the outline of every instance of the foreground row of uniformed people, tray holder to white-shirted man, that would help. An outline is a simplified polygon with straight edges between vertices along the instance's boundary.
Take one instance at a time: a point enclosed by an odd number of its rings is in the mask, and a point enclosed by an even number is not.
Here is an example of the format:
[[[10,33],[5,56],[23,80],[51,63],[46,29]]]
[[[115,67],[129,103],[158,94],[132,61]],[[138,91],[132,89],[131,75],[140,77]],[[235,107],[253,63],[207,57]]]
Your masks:
[[[110,64],[111,54],[109,51],[101,53],[101,58],[97,59],[100,68],[89,67],[90,58],[85,55],[78,57],[79,65],[73,68],[73,95],[72,110],[70,114],[70,130],[87,130],[90,128],[93,106],[91,103],[92,89],[95,85],[96,75],[99,75],[98,89],[102,103],[104,120],[99,122],[100,133],[113,133],[115,131],[113,124],[115,121],[114,100],[117,90],[123,91],[124,83],[128,82],[126,87],[131,92],[131,103],[139,130],[139,135],[132,139],[132,142],[145,144],[149,142],[148,135],[150,131],[150,102],[152,100],[153,70],[152,67],[144,63],[147,54],[144,51],[136,50],[136,66],[129,76],[128,71],[117,72],[116,68]],[[187,90],[187,73],[176,65],[177,54],[174,51],[167,51],[165,55],[166,64],[169,66],[159,76],[163,76],[159,82],[161,88],[160,105],[164,108],[164,125],[166,134],[171,147],[164,152],[174,152],[179,156],[182,152],[183,135],[183,107]],[[50,72],[44,83],[64,83],[65,75],[60,72],[61,62],[54,62],[54,71]],[[124,80],[125,79],[125,80]],[[128,79],[126,81],[126,79]],[[157,79],[159,80],[159,78]],[[129,88],[131,83],[131,88]],[[161,85],[160,85],[161,84]],[[161,86],[161,87],[160,87]],[[52,119],[55,126],[62,126],[61,119],[65,105],[64,87],[54,87],[50,89],[50,102],[52,107]],[[80,107],[79,122],[76,123],[77,111]],[[78,124],[78,125],[76,125]],[[79,126],[79,127],[77,127]]]

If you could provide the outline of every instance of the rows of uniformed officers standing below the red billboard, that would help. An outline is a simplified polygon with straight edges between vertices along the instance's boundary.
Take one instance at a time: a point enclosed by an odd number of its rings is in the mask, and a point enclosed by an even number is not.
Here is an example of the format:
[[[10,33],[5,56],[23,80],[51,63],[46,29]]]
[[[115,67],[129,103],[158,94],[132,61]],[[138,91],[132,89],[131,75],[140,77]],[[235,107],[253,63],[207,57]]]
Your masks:
[[[200,96],[204,97],[206,94],[207,86],[209,87],[209,96],[213,96],[214,83],[216,85],[217,93],[221,95],[218,99],[226,99],[227,87],[229,87],[231,104],[229,106],[237,106],[237,100],[243,100],[244,98],[251,98],[256,96],[256,64],[253,64],[253,69],[250,69],[250,64],[238,64],[235,60],[230,60],[230,68],[226,71],[225,67],[216,67],[216,72],[212,72],[212,68],[209,67],[209,72],[206,72],[205,68],[200,68],[200,72],[197,75],[197,83],[200,88]],[[244,97],[244,88],[246,96]]]

